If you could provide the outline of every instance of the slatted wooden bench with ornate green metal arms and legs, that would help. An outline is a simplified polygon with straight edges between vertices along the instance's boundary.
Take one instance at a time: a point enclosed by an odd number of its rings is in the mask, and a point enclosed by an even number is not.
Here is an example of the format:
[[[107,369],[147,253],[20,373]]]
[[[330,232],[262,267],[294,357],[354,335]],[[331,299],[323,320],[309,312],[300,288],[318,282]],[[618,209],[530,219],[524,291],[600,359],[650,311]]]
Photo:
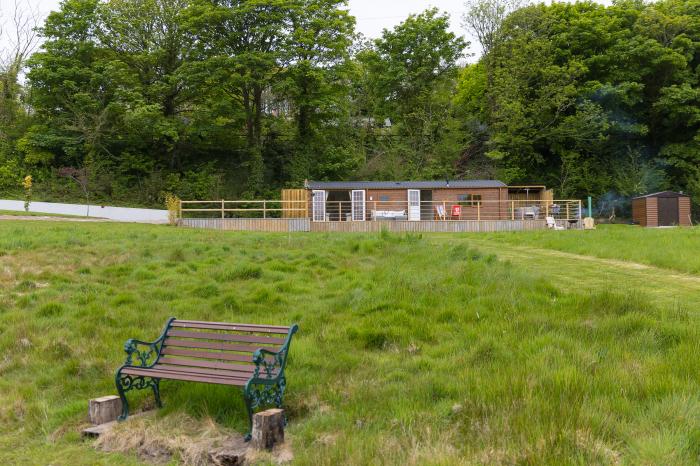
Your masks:
[[[282,406],[284,369],[292,336],[299,326],[227,324],[171,318],[153,342],[128,340],[127,357],[116,373],[122,400],[119,420],[129,415],[126,392],[153,390],[160,400],[161,380],[183,380],[243,387],[252,425],[253,413],[264,406]],[[250,438],[250,432],[247,438]]]

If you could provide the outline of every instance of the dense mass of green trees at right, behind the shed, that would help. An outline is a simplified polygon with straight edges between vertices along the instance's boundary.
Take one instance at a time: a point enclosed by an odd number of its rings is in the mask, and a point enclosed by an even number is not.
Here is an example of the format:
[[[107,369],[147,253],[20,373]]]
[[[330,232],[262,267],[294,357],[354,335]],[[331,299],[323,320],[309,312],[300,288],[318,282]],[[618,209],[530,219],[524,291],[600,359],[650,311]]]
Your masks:
[[[500,176],[563,197],[694,192],[699,9],[665,0],[512,13],[458,86],[463,111],[488,125],[483,151]]]

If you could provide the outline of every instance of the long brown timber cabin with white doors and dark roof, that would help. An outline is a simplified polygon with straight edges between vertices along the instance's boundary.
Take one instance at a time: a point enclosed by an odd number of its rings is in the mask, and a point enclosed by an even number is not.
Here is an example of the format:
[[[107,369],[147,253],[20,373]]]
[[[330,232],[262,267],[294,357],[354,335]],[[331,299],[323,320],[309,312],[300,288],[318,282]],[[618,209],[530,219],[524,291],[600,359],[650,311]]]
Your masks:
[[[544,220],[550,207],[564,214],[545,186],[496,180],[307,181],[303,190],[284,190],[282,200],[285,218],[312,222]],[[566,214],[579,218],[579,212]]]

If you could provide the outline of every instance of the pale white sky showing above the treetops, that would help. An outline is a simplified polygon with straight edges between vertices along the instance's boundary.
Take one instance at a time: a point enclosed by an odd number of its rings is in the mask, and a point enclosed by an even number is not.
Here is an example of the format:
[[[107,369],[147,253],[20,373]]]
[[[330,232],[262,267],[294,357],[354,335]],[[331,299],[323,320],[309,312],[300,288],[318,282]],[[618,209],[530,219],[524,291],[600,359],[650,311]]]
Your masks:
[[[7,19],[8,14],[11,14],[15,2],[20,5],[31,5],[42,16],[57,9],[60,4],[60,0],[0,0],[2,15],[0,23]],[[612,0],[599,0],[599,3],[610,4]],[[369,38],[379,37],[384,28],[393,28],[411,13],[420,13],[427,8],[437,7],[450,14],[453,32],[474,42],[461,27],[464,0],[349,0],[349,6],[350,12],[357,18],[357,31]],[[6,47],[4,43],[6,40],[6,37],[0,36],[2,48]],[[478,51],[478,47],[473,45],[469,52],[478,54]]]

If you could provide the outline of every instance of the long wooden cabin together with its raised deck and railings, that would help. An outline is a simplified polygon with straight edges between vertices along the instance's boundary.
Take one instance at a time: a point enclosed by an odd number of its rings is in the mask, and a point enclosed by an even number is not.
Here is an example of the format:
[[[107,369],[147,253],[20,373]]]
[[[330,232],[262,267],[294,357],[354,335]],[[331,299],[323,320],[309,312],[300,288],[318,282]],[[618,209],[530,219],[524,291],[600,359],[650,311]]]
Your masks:
[[[180,201],[178,224],[269,232],[496,232],[581,228],[580,200],[496,180],[307,181],[281,200]],[[554,222],[554,225],[552,225]]]

